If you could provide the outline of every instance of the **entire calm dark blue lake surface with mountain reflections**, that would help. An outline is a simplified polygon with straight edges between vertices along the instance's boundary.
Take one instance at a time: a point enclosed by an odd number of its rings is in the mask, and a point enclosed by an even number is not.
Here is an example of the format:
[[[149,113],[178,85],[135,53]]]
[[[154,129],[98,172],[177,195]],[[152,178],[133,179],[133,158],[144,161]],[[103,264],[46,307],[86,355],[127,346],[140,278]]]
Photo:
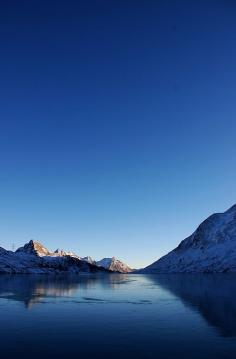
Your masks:
[[[236,276],[0,276],[0,352],[235,359]]]

